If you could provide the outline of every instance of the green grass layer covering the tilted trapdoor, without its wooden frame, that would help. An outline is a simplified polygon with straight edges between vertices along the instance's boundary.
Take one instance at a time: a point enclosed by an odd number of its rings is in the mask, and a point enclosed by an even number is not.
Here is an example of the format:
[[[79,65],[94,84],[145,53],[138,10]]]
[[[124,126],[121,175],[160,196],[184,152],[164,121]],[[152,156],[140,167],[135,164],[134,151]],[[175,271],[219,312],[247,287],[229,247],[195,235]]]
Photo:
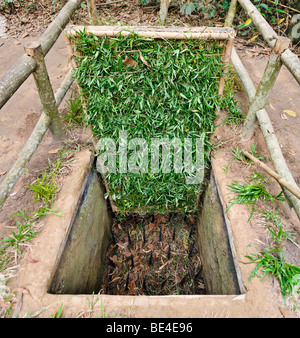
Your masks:
[[[87,122],[97,138],[116,142],[120,131],[128,141],[204,135],[205,167],[209,166],[215,110],[230,107],[232,95],[220,101],[223,47],[199,40],[153,40],[139,35],[99,38],[79,33],[75,39],[76,78],[88,107]],[[124,64],[125,58],[133,59]],[[194,147],[195,160],[195,147]],[[128,158],[130,151],[128,151]],[[118,156],[117,156],[118,168]],[[195,211],[202,185],[186,184],[187,173],[107,173],[105,178],[119,211]]]

